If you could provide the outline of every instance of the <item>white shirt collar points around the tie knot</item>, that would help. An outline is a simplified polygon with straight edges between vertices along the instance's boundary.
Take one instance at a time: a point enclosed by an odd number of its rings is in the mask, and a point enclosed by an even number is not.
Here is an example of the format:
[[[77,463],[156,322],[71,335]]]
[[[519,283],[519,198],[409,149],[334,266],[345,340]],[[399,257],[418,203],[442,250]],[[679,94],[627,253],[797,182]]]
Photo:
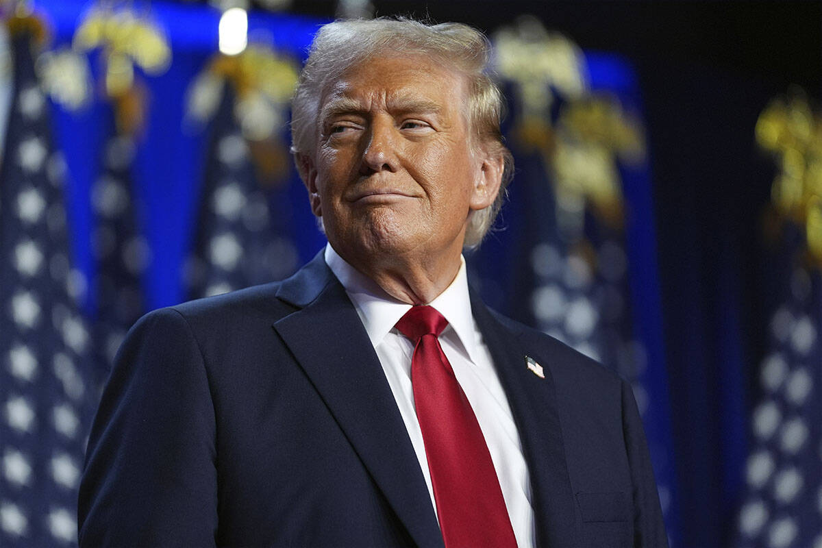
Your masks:
[[[411,305],[388,295],[372,279],[349,265],[330,244],[326,246],[325,259],[331,272],[343,284],[363,321],[368,338],[376,348],[405,312],[409,311]],[[462,346],[471,361],[476,362],[477,329],[471,314],[468,275],[463,256],[459,256],[459,271],[454,281],[429,304],[448,320],[449,326],[441,336],[455,335],[455,343]]]

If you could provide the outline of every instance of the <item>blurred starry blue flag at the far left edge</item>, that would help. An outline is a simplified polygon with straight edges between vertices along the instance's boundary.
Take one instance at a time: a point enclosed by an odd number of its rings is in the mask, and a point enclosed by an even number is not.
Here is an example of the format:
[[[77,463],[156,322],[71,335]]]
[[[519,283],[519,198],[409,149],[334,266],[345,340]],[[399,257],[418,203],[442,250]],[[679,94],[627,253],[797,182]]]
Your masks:
[[[71,268],[65,163],[54,150],[33,39],[13,37],[0,171],[0,546],[76,543],[90,423],[90,335]]]

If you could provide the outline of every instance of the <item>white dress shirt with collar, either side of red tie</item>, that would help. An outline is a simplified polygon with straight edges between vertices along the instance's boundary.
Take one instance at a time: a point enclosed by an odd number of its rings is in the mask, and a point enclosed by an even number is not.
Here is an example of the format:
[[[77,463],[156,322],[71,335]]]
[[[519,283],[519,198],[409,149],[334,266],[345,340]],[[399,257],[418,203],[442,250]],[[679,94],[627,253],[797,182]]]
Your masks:
[[[413,403],[413,343],[394,327],[411,305],[387,295],[372,279],[345,262],[330,245],[326,246],[325,258],[326,264],[343,284],[360,320],[363,320],[368,337],[380,359],[399,414],[408,429],[419,466],[423,470],[436,514],[423,433],[420,431]],[[528,467],[525,465],[520,435],[508,399],[496,375],[491,354],[483,342],[483,335],[471,314],[465,261],[461,257],[460,260],[459,273],[454,281],[428,304],[448,320],[448,326],[440,335],[442,350],[483,431],[496,477],[500,481],[502,496],[506,501],[511,526],[514,528],[517,546],[530,548],[534,546],[535,537]]]

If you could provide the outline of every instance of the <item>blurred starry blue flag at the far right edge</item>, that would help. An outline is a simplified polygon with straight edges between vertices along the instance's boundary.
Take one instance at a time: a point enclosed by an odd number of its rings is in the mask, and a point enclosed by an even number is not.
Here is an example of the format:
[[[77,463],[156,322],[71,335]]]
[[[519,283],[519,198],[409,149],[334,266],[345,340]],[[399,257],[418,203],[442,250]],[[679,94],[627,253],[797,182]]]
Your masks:
[[[778,302],[751,416],[739,548],[822,548],[822,273],[788,226],[771,262]]]

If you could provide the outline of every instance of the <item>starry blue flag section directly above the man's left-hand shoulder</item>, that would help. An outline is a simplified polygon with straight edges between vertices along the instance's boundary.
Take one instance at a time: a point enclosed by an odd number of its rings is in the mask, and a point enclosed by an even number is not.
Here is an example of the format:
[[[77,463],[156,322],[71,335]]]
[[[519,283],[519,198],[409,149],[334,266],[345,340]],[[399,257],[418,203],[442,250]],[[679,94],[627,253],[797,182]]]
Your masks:
[[[297,248],[257,182],[234,98],[224,85],[211,122],[196,246],[186,265],[190,298],[282,279],[298,266]]]

